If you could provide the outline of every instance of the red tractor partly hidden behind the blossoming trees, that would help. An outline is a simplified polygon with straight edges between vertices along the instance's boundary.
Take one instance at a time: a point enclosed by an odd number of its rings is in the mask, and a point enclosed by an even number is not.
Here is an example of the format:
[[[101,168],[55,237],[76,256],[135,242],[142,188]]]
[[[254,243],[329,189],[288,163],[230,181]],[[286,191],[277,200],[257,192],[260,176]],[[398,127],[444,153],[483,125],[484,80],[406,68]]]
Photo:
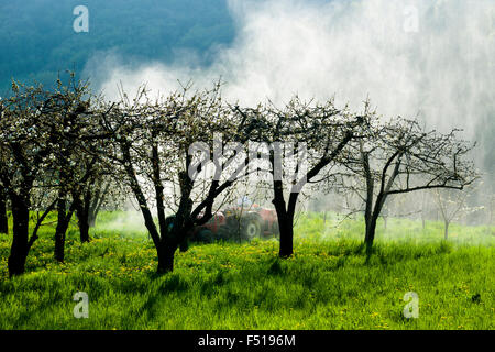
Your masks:
[[[216,240],[251,240],[278,235],[278,218],[273,209],[253,205],[217,211],[205,224],[195,228],[190,239],[198,242]]]

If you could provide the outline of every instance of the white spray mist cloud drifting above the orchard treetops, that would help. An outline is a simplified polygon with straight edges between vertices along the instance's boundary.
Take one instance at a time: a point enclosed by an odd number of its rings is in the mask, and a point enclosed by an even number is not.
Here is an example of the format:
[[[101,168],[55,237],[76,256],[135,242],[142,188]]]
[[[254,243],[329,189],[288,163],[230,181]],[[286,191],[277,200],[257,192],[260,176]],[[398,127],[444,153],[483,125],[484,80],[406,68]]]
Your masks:
[[[253,105],[286,102],[298,94],[336,97],[361,109],[370,97],[378,112],[419,116],[429,128],[453,127],[473,138],[495,111],[493,0],[229,0],[237,37],[215,48],[208,67],[190,55],[170,65],[125,67],[108,55],[90,62],[109,98],[122,82],[156,92],[177,79],[210,87],[222,77],[224,97]],[[193,55],[194,56],[194,55]],[[120,65],[120,64],[122,65]],[[97,65],[96,65],[97,64]],[[95,76],[95,74],[92,75]]]

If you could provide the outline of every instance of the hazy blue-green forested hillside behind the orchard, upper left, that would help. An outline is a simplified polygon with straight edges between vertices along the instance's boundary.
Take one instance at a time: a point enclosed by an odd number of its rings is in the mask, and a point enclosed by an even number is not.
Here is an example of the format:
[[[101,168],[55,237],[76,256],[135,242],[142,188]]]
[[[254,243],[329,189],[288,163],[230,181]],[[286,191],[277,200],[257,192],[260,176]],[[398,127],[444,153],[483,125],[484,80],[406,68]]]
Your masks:
[[[73,30],[77,6],[89,10],[88,33]],[[48,84],[57,72],[80,73],[98,52],[169,62],[177,50],[204,54],[233,35],[224,0],[1,1],[0,96],[11,78]]]

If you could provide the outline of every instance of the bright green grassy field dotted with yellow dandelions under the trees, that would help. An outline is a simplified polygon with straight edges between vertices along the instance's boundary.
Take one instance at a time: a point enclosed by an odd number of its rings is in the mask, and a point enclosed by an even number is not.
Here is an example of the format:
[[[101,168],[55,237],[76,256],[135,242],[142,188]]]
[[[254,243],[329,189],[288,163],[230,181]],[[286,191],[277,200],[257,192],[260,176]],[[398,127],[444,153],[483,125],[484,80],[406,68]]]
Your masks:
[[[0,329],[494,329],[494,228],[392,219],[380,223],[372,258],[363,223],[300,217],[295,255],[277,258],[276,239],[193,245],[176,270],[156,276],[156,255],[134,215],[103,213],[66,263],[53,258],[45,227],[28,273],[9,279],[10,237],[0,235]],[[135,217],[139,219],[139,217]],[[48,221],[51,221],[48,219]],[[76,319],[73,296],[89,296]],[[404,295],[419,296],[406,319]]]

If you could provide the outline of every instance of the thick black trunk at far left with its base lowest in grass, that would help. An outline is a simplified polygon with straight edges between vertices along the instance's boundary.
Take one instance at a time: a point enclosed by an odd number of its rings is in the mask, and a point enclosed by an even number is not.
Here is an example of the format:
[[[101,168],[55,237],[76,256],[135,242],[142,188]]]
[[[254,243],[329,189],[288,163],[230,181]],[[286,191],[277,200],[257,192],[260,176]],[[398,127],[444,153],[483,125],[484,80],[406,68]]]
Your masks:
[[[13,239],[8,261],[9,276],[21,275],[25,271],[28,257],[28,238],[30,211],[28,205],[20,198],[12,199]]]

